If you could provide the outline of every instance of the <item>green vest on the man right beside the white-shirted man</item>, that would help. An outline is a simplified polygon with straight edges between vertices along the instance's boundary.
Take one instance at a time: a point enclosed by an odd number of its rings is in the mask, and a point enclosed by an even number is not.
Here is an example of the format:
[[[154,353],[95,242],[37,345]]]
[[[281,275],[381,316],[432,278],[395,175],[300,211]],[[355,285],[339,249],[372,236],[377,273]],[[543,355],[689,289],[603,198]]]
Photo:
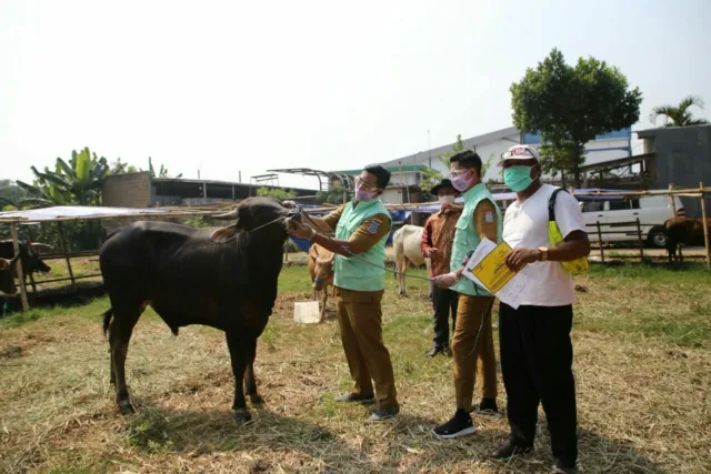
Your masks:
[[[493,195],[489,192],[484,183],[479,183],[469,191],[462,194],[464,198],[464,210],[462,215],[457,221],[457,232],[454,232],[454,241],[452,243],[452,256],[450,259],[450,271],[454,272],[462,268],[462,261],[467,256],[470,250],[477,249],[481,239],[479,239],[479,232],[474,229],[474,209],[477,204],[483,199],[488,199],[493,203],[493,208],[497,212],[497,242],[501,242],[501,232],[503,229],[503,220],[501,219],[501,211],[493,199]],[[488,290],[475,285],[474,282],[462,275],[462,279],[451,288],[459,293],[468,294],[470,296],[491,296]]]

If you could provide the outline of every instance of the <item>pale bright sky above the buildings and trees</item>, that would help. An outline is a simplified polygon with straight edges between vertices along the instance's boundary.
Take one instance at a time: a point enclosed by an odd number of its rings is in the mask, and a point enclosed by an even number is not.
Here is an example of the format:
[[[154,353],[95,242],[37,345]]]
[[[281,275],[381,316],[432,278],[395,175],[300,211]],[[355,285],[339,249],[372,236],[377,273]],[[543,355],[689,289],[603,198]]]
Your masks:
[[[243,182],[392,160],[510,127],[511,83],[552,48],[640,88],[633,130],[688,94],[711,119],[710,18],[708,0],[0,0],[0,179],[83,147]]]

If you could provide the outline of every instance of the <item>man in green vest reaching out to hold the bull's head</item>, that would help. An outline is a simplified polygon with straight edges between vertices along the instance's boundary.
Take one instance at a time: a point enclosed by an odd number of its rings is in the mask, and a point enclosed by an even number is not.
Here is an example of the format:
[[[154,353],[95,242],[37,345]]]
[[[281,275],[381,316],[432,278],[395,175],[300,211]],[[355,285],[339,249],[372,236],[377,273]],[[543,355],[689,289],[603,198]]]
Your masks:
[[[337,396],[336,401],[368,403],[377,395],[378,406],[369,422],[390,418],[400,411],[390,353],[382,340],[381,300],[391,219],[380,195],[389,181],[390,172],[384,168],[367,167],[356,179],[356,196],[351,202],[323,219],[311,218],[320,231],[336,230],[336,239],[318,233],[308,219],[306,224],[293,220],[290,229],[294,236],[336,253],[333,285],[338,322],[346,360],[356,382],[350,393]]]

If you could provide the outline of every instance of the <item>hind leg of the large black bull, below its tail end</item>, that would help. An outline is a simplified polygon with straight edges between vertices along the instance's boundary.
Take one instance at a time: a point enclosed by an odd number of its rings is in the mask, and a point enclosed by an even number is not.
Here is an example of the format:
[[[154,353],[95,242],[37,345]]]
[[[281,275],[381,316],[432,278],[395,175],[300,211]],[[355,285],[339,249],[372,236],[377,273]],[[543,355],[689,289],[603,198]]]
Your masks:
[[[130,415],[136,412],[126,385],[126,356],[129,352],[129,341],[133,326],[136,326],[140,315],[140,306],[131,311],[117,310],[109,326],[111,382],[116,384],[116,402],[123,415]]]

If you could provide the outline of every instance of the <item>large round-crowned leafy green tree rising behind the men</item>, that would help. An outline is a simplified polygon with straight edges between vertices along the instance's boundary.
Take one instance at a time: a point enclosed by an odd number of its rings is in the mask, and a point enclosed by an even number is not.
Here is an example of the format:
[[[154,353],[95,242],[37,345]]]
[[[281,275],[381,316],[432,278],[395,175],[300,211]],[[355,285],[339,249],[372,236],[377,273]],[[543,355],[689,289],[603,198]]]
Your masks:
[[[584,147],[599,134],[631,127],[639,120],[642,92],[627,77],[595,58],[569,65],[553,49],[511,84],[513,123],[524,133],[541,133],[543,171],[572,173],[580,186]]]

